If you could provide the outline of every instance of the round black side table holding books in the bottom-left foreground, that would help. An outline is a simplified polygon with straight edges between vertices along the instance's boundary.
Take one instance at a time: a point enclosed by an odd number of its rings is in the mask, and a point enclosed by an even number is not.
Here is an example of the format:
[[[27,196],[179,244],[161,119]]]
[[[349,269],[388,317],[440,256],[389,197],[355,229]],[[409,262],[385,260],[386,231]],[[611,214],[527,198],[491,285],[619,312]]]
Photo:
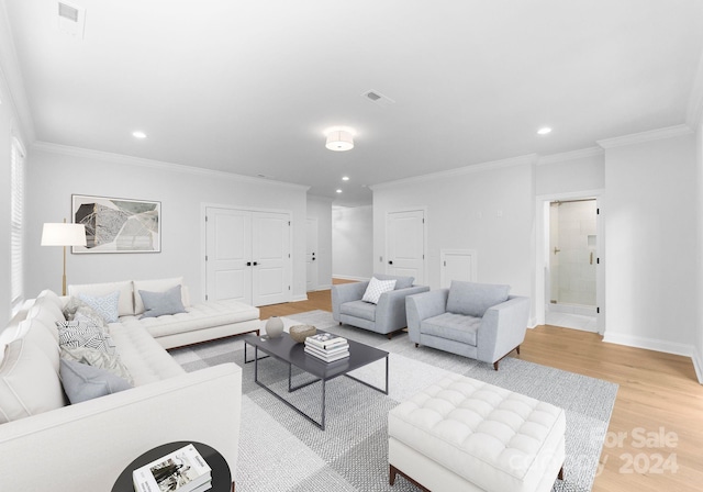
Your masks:
[[[186,440],[157,446],[140,456],[120,473],[120,477],[118,477],[118,480],[112,487],[112,492],[134,492],[134,483],[132,482],[132,472],[134,470],[189,444],[196,446],[198,452],[200,452],[204,460],[208,461],[208,465],[210,465],[210,468],[212,468],[212,489],[209,489],[208,492],[234,492],[230,466],[224,457],[207,444]]]

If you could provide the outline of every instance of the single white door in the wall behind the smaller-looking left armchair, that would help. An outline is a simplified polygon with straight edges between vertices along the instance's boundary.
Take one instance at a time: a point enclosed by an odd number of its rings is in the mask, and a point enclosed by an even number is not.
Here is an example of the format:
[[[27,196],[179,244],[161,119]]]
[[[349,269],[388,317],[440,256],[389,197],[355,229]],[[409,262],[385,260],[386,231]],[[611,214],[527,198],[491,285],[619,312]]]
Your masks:
[[[411,210],[388,214],[386,271],[425,279],[425,212]]]

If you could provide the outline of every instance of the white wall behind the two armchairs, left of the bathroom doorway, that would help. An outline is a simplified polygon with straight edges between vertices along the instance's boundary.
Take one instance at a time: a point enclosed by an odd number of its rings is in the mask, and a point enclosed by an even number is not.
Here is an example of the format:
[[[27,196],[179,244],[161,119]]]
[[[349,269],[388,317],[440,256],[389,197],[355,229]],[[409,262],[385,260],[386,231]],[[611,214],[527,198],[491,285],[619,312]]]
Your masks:
[[[477,281],[507,283],[511,293],[534,300],[534,158],[510,165],[467,167],[424,179],[373,187],[373,266],[383,272],[386,217],[425,208],[426,283],[440,283],[440,249],[477,251]]]

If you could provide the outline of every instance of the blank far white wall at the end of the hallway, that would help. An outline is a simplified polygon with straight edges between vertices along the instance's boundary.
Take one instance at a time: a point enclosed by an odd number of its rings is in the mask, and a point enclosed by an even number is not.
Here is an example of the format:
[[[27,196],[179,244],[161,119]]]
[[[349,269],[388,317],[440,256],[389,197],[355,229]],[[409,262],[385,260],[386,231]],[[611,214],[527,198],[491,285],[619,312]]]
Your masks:
[[[332,271],[335,278],[365,280],[373,275],[373,208],[332,210]]]

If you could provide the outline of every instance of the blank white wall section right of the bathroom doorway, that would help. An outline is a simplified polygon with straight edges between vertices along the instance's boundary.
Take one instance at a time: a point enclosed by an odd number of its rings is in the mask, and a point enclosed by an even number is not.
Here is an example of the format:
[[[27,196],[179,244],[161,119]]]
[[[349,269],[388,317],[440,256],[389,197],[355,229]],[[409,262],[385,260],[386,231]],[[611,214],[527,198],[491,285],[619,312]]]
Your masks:
[[[605,340],[691,355],[694,135],[606,148],[605,185]]]

